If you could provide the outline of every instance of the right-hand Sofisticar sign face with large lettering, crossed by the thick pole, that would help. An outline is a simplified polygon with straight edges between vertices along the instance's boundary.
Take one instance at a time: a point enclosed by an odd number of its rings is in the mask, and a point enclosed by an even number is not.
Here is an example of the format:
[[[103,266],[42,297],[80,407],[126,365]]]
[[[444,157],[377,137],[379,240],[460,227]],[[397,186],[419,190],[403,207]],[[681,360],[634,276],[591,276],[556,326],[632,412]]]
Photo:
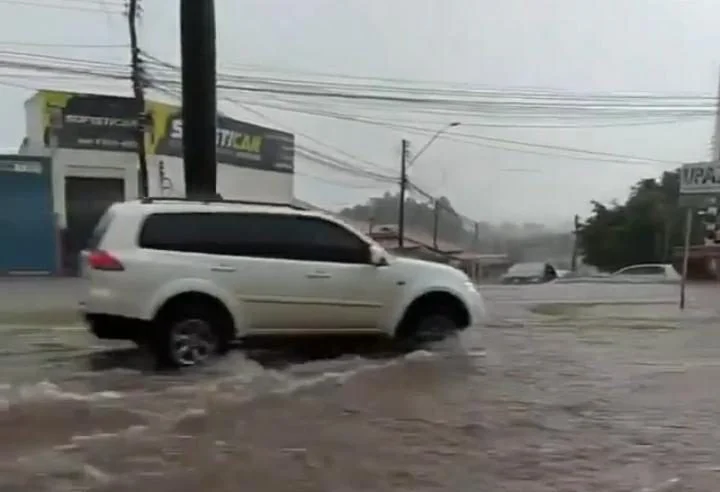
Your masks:
[[[153,122],[151,152],[182,157],[182,110],[159,103],[149,106]],[[215,145],[218,162],[282,173],[295,170],[295,138],[290,133],[218,116]]]

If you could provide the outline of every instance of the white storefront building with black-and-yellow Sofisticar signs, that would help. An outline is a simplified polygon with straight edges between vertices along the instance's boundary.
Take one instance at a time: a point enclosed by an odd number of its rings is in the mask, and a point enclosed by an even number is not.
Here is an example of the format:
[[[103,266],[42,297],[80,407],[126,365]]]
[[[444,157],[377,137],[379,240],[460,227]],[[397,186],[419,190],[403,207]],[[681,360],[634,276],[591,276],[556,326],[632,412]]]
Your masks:
[[[76,273],[78,253],[107,207],[138,196],[137,129],[142,110],[127,97],[57,91],[40,91],[25,103],[22,154],[42,156],[50,163],[47,196],[55,214],[53,230],[59,229],[61,238],[63,273]],[[150,194],[183,196],[182,110],[148,102],[144,112],[149,121],[144,145]],[[217,190],[223,197],[292,200],[292,134],[221,116],[217,160]]]

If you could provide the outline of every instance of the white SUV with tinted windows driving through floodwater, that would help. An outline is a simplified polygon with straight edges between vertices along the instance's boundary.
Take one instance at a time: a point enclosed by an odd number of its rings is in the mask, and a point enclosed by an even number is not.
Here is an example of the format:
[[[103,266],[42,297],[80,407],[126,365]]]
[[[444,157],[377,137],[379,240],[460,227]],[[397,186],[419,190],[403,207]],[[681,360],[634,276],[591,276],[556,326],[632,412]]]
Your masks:
[[[388,254],[289,205],[148,198],[118,203],[81,258],[95,336],[191,366],[253,336],[412,337],[484,316],[460,270]]]

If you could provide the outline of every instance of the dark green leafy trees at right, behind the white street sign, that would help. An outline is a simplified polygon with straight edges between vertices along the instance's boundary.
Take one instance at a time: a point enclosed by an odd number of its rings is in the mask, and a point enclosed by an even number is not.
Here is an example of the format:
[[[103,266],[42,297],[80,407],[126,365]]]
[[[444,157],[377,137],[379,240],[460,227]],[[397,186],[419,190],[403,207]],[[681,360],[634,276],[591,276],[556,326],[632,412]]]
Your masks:
[[[643,179],[625,203],[593,202],[582,224],[579,244],[585,263],[613,271],[637,263],[669,262],[681,246],[685,211],[678,206],[679,170],[659,179]],[[702,238],[703,224],[693,221],[692,238]]]

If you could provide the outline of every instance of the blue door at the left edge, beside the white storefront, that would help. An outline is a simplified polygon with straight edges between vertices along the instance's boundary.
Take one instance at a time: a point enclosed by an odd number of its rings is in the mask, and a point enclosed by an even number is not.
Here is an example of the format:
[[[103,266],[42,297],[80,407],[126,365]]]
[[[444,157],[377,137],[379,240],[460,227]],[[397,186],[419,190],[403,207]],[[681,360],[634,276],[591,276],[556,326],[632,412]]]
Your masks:
[[[50,161],[0,156],[0,275],[57,271]]]

